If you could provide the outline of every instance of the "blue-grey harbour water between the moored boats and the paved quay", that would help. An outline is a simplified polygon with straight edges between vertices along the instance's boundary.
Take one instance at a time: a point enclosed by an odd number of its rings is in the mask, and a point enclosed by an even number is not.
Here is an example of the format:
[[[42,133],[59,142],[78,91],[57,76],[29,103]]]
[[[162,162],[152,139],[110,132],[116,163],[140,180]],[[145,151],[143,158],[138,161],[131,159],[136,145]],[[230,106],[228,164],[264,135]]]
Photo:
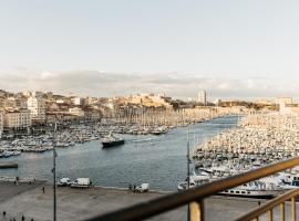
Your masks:
[[[205,123],[179,127],[168,134],[120,135],[125,144],[102,148],[99,140],[56,148],[56,176],[59,178],[90,177],[94,185],[128,187],[148,182],[151,189],[175,190],[187,173],[187,134],[190,152],[203,141],[235,127],[237,116],[219,117]],[[20,156],[1,158],[19,164],[18,169],[0,169],[0,176],[32,177],[52,180],[53,152],[22,152]]]

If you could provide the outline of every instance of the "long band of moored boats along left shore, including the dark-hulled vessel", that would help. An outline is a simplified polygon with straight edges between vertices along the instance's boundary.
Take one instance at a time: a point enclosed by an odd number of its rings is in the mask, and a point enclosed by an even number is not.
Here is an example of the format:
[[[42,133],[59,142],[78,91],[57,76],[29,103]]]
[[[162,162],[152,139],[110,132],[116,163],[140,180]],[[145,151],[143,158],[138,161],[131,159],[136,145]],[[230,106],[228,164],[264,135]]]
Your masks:
[[[226,115],[213,109],[189,112],[161,112],[126,117],[105,118],[100,124],[70,125],[59,131],[47,131],[40,136],[23,136],[10,140],[0,139],[0,157],[11,157],[21,152],[43,152],[53,147],[71,147],[95,139],[101,139],[104,147],[123,145],[124,139],[113,134],[163,135],[179,126],[199,123]]]

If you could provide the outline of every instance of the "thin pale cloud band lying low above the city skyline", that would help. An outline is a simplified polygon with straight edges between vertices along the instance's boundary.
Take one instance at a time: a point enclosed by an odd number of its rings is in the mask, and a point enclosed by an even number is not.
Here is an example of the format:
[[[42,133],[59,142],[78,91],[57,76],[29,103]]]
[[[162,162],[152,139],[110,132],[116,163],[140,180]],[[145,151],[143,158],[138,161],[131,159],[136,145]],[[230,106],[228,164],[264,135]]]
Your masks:
[[[203,88],[213,98],[260,98],[297,96],[299,84],[266,77],[225,78],[179,73],[125,74],[89,70],[39,72],[22,67],[9,74],[0,73],[0,87],[11,92],[38,90],[80,96],[122,96],[153,92],[178,98],[195,98],[198,90]]]

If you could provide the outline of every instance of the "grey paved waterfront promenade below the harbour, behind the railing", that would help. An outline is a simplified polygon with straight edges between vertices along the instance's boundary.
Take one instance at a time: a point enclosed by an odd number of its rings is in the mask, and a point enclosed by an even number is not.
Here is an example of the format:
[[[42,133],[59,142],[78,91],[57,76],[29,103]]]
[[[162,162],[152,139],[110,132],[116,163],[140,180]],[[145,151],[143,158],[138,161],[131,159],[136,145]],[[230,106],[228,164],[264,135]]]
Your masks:
[[[45,187],[43,193],[42,187]],[[52,187],[44,185],[0,182],[0,220],[9,221],[13,218],[21,220],[48,221],[53,220]],[[99,213],[105,213],[123,207],[127,207],[153,198],[162,197],[166,192],[134,193],[128,190],[113,188],[72,189],[58,188],[58,220],[75,221],[84,220]],[[231,220],[258,207],[258,199],[212,197],[205,200],[206,218],[209,221]],[[299,206],[297,206],[299,211]],[[2,212],[7,214],[3,217]],[[290,211],[289,203],[286,207],[287,219]],[[276,209],[275,218],[279,218]],[[175,211],[152,218],[154,221],[186,220],[186,207]],[[260,219],[260,220],[267,220]]]

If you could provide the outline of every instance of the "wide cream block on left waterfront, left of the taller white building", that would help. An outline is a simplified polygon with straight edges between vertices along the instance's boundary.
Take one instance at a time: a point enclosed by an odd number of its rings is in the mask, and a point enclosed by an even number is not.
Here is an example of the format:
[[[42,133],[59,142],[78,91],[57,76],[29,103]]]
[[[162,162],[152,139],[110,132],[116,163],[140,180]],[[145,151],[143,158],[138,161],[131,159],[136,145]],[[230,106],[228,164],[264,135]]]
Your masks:
[[[31,126],[31,115],[29,109],[6,110],[3,117],[4,128],[27,128]]]

